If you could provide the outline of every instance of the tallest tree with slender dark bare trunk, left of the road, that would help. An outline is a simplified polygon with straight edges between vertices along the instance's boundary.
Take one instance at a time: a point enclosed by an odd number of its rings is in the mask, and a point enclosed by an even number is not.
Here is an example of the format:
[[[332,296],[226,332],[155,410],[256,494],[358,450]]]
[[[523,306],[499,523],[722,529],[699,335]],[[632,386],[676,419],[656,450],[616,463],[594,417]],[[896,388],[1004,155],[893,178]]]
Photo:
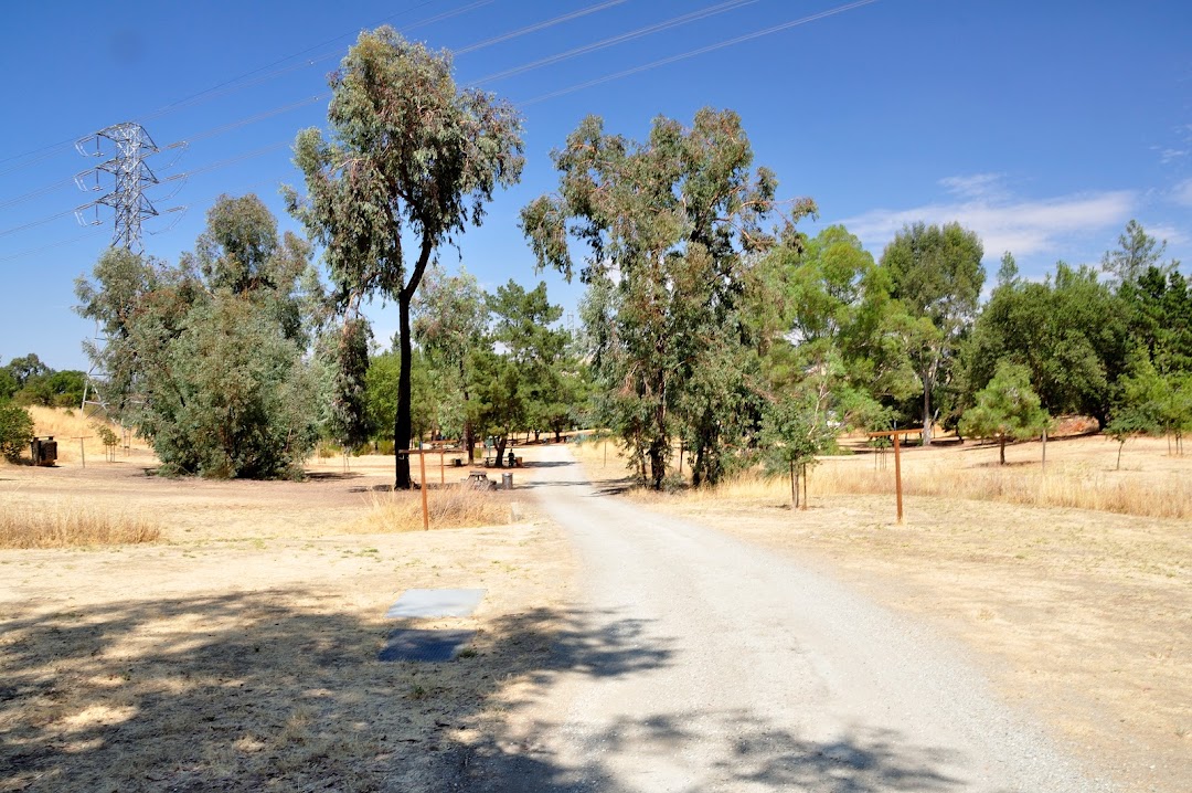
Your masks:
[[[312,128],[294,142],[306,197],[286,191],[291,212],[323,246],[336,309],[353,314],[373,295],[398,304],[398,450],[412,432],[410,306],[422,275],[441,244],[479,224],[523,162],[513,106],[460,91],[451,69],[447,54],[392,27],[362,32],[330,78],[330,137]],[[395,485],[411,485],[408,456],[397,456]]]

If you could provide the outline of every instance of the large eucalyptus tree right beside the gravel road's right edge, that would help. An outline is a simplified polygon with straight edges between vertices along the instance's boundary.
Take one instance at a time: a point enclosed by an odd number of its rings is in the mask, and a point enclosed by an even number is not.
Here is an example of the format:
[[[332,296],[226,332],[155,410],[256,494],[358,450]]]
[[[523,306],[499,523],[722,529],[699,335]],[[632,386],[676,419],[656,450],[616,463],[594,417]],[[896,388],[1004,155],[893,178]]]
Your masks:
[[[577,271],[570,240],[586,247],[578,271],[584,314],[596,318],[588,330],[606,416],[654,488],[676,434],[696,482],[714,482],[744,428],[750,378],[708,377],[756,366],[741,298],[753,254],[776,242],[763,228],[776,215],[775,175],[753,168],[732,111],[701,110],[690,129],[656,118],[640,143],[590,116],[552,157],[559,190],[522,210],[522,229],[539,266],[567,279]],[[794,221],[812,211],[794,203],[778,235],[793,237]]]

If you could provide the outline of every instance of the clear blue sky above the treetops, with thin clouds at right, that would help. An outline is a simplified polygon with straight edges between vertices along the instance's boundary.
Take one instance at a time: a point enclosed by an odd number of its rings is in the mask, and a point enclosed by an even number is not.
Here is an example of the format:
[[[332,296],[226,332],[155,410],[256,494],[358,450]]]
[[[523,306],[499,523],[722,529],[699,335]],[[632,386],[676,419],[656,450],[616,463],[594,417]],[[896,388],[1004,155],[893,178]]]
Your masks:
[[[442,252],[489,289],[545,279],[573,309],[581,287],[534,273],[516,222],[553,190],[548,153],[581,118],[640,138],[653,117],[690,122],[703,106],[740,113],[781,197],[815,199],[809,233],[843,222],[875,256],[907,222],[955,219],[981,235],[991,279],[1007,249],[1041,278],[1058,259],[1097,262],[1137,218],[1192,261],[1186,0],[130,0],[0,13],[0,363],[36,352],[87,366],[93,328],[72,311],[73,281],[108,244],[111,216],[81,227],[70,211],[94,198],[74,185],[95,162],[76,138],[136,120],[160,147],[188,142],[176,162],[178,149],[149,161],[162,179],[188,176],[148,193],[160,210],[186,206],[145,222],[148,253],[192,249],[223,192],[256,192],[297,230],[278,197],[300,186],[288,145],[322,125],[327,73],[381,23],[455,51],[460,83],[524,113],[522,182],[460,254]],[[396,308],[371,314],[387,339]]]

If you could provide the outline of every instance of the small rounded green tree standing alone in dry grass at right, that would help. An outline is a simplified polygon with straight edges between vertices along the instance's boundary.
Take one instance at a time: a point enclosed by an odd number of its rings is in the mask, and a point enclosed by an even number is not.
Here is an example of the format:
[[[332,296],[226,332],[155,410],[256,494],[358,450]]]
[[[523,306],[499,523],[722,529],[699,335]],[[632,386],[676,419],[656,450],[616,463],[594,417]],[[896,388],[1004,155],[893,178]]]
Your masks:
[[[1006,441],[1038,436],[1047,429],[1048,421],[1038,395],[1031,390],[1030,371],[1002,361],[993,379],[976,395],[976,405],[961,419],[961,432],[995,439],[999,460],[1005,465]]]

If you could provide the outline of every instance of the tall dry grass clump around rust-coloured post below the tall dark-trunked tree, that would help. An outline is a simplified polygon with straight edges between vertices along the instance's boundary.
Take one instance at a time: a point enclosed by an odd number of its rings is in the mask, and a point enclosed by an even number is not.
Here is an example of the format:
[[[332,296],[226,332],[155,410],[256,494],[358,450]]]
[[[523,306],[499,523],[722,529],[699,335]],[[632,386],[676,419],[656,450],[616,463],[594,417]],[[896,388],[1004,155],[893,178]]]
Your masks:
[[[430,528],[471,528],[510,522],[510,503],[502,492],[448,485],[427,492]],[[368,514],[354,532],[387,533],[422,531],[422,496],[411,492],[374,494]]]

